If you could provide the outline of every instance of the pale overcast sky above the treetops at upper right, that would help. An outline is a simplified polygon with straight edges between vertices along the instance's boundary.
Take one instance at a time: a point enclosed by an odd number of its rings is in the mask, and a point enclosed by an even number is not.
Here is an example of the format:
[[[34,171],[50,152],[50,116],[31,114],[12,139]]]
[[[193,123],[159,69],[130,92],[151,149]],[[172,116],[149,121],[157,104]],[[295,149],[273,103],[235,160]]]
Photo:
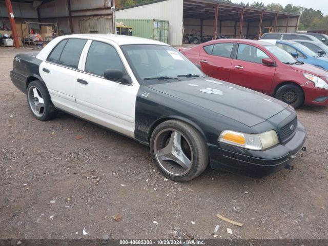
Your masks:
[[[265,5],[277,3],[282,6],[286,6],[288,4],[293,4],[297,6],[303,6],[305,8],[313,8],[315,10],[320,10],[324,15],[328,15],[328,1],[327,0],[231,0],[233,3],[253,3],[253,2],[263,2]]]

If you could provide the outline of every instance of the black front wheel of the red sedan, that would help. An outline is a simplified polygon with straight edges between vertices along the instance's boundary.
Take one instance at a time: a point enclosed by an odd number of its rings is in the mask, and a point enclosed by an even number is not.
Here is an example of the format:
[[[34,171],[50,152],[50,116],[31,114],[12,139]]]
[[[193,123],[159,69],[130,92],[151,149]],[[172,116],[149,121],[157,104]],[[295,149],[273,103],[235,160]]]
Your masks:
[[[304,93],[298,86],[289,84],[284,85],[277,90],[276,98],[294,108],[298,108],[304,102]]]

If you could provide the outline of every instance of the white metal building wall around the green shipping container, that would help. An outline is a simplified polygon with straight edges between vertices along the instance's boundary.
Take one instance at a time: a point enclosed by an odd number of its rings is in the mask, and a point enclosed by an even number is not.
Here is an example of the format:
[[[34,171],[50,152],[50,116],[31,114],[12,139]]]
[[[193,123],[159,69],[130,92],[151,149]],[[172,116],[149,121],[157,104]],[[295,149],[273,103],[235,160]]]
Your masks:
[[[182,44],[183,0],[167,0],[154,4],[118,10],[117,19],[159,19],[169,21],[169,44]]]

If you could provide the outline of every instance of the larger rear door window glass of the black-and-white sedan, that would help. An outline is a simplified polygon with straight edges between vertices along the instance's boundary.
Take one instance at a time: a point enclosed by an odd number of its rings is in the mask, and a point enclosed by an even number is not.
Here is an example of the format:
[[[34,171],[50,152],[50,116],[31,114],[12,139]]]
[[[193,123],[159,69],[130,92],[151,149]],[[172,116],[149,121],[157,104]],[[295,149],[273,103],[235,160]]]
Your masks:
[[[86,39],[69,39],[60,55],[59,64],[77,68],[81,52],[86,43]]]

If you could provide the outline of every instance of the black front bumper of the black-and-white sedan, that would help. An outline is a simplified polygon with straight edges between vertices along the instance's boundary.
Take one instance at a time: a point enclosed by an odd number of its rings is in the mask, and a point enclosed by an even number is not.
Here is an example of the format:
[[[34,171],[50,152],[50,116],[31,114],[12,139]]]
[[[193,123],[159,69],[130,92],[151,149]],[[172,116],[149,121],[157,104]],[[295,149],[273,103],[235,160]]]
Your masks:
[[[213,169],[224,170],[253,178],[262,178],[278,172],[289,165],[302,149],[306,130],[298,122],[298,128],[291,140],[267,150],[252,151],[226,144],[210,146],[210,165]]]

